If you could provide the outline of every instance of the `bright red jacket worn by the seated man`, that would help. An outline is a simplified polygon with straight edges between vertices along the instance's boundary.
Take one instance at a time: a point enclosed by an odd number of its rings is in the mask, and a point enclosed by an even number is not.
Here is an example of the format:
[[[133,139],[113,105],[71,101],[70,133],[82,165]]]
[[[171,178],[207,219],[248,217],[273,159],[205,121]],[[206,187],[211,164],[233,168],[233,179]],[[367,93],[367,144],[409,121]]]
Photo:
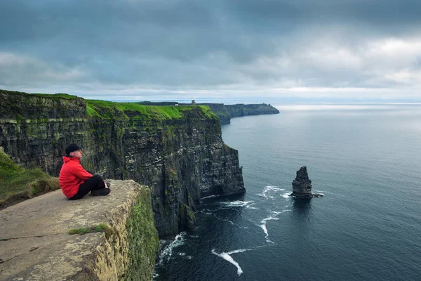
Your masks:
[[[79,185],[91,177],[92,175],[83,169],[79,158],[63,156],[58,183],[67,198],[73,197],[79,190]]]

